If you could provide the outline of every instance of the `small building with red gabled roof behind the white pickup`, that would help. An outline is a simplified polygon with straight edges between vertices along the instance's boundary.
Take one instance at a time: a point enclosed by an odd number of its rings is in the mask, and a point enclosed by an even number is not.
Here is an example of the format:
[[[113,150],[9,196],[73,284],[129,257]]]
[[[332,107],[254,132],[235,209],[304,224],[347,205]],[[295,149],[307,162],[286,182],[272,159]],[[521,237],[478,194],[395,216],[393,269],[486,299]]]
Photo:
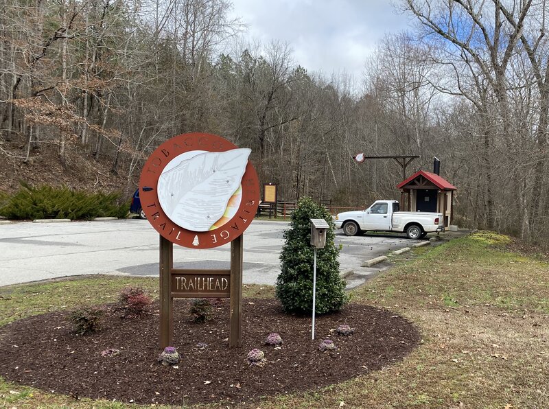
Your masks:
[[[446,228],[452,224],[456,187],[438,174],[420,170],[399,183],[397,189],[401,190],[401,210],[442,213]]]

